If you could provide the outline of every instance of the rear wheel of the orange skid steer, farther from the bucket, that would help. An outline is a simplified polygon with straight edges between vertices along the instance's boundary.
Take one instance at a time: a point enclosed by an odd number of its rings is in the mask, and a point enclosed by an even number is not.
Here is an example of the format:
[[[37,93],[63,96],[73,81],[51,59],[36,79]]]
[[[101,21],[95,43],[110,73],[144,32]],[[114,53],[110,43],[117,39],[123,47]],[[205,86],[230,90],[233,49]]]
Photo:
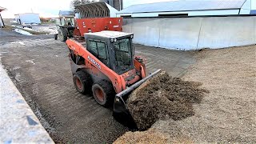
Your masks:
[[[90,94],[91,90],[91,78],[90,74],[87,74],[84,71],[78,71],[73,76],[73,82],[75,88],[78,90],[81,94]]]

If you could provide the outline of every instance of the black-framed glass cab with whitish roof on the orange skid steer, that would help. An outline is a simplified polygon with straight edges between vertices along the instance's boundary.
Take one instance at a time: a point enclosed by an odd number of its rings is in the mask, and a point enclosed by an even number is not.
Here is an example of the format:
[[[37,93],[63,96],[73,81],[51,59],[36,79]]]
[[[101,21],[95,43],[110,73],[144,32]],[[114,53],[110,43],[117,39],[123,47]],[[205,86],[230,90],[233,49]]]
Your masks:
[[[101,31],[85,34],[86,49],[117,74],[134,69],[134,34]]]

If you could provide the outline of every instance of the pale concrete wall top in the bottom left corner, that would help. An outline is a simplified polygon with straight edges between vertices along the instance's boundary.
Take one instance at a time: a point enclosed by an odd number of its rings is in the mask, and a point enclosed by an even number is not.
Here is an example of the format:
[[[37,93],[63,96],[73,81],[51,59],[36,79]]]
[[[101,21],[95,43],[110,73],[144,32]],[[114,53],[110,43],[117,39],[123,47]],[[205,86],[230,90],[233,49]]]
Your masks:
[[[54,143],[0,64],[0,143]]]

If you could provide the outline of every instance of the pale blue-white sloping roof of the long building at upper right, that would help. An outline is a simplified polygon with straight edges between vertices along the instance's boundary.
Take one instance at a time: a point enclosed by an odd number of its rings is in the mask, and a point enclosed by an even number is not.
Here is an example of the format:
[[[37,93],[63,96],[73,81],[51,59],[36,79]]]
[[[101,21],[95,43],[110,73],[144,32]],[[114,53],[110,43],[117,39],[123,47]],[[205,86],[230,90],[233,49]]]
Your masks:
[[[240,9],[246,0],[170,1],[129,6],[118,14]]]

